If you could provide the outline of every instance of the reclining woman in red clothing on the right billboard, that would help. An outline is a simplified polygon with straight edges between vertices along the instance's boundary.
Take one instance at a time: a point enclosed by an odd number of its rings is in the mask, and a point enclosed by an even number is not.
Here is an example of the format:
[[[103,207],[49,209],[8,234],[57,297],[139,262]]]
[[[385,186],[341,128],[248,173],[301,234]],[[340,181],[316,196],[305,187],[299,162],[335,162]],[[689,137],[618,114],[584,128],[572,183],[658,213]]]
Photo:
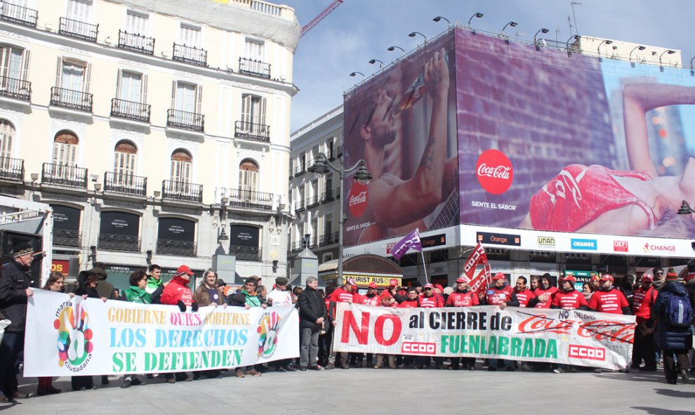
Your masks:
[[[695,159],[689,158],[680,174],[658,176],[645,116],[658,107],[682,104],[695,105],[695,88],[626,84],[623,124],[630,170],[582,164],[565,167],[531,197],[529,214],[520,226],[609,235],[695,235],[682,223],[672,224],[678,221],[681,202],[695,201]]]

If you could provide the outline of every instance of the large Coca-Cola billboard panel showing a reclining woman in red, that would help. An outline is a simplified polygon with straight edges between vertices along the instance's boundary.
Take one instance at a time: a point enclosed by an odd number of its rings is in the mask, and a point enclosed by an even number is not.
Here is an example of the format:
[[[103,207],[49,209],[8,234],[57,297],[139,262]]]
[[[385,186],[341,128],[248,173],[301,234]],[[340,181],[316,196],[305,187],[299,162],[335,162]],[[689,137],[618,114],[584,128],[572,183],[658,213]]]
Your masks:
[[[462,223],[695,237],[687,71],[457,36]]]

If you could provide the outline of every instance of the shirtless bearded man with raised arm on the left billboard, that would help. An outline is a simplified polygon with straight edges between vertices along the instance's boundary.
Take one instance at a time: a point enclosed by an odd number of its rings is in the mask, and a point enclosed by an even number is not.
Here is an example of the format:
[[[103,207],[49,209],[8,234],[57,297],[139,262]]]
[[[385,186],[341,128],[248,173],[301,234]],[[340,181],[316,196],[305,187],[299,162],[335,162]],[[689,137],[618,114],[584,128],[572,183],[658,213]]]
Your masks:
[[[396,139],[397,112],[402,110],[396,102],[397,91],[387,86],[376,89],[373,98],[364,100],[361,109],[346,119],[345,150],[348,159],[364,159],[373,179],[369,185],[354,184],[350,194],[362,195],[365,209],[350,218],[350,223],[368,223],[357,242],[370,242],[392,235],[409,232],[414,228],[425,230],[423,218],[441,204],[456,187],[456,157],[447,160],[447,126],[449,103],[449,63],[444,49],[435,51],[425,63],[421,85],[413,93],[426,93],[431,100],[432,117],[427,143],[420,164],[410,178],[397,177],[388,171],[385,146]],[[419,80],[419,79],[418,79]],[[402,100],[404,97],[399,97]],[[371,104],[371,106],[369,105]],[[349,124],[349,125],[348,125]],[[405,150],[404,150],[405,151]],[[352,180],[349,180],[352,181]],[[364,186],[360,189],[355,186]],[[352,206],[352,201],[350,202]],[[406,209],[404,209],[406,206]],[[350,215],[355,212],[350,209]]]

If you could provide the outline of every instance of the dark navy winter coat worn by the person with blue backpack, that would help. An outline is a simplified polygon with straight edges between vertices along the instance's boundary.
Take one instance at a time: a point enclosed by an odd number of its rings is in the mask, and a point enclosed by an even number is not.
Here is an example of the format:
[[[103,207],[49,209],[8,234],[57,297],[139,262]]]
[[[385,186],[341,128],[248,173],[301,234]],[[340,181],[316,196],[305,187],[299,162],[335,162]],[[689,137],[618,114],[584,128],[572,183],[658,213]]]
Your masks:
[[[647,326],[651,327],[657,318],[656,346],[660,349],[689,349],[692,347],[691,327],[676,327],[666,323],[666,305],[671,296],[687,298],[685,286],[680,282],[663,284],[661,291],[651,306],[651,317]]]

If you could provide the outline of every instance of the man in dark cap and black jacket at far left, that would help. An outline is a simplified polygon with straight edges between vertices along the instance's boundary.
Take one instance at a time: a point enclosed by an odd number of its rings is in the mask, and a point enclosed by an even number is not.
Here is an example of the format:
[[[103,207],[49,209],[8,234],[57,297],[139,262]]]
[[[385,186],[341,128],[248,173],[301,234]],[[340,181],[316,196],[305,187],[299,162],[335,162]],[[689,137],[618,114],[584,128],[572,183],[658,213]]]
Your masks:
[[[27,301],[34,295],[29,288],[32,275],[29,267],[34,261],[34,249],[23,242],[12,250],[12,261],[4,265],[0,274],[0,313],[11,324],[5,328],[0,343],[0,402],[26,399],[27,393],[18,390],[15,362],[24,350],[25,322],[27,320]]]

